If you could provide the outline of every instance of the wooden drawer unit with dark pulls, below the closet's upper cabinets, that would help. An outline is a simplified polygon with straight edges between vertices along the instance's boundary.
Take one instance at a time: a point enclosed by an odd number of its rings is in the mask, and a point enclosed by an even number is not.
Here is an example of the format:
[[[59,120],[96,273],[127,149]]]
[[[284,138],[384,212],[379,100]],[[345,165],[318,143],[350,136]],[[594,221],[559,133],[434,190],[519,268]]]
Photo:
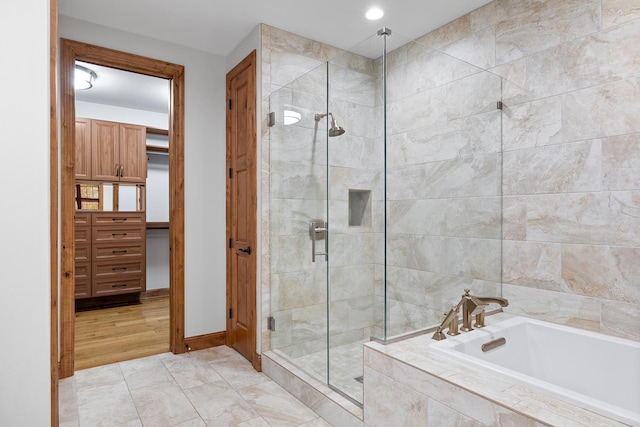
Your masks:
[[[76,213],[76,298],[146,290],[145,215]]]

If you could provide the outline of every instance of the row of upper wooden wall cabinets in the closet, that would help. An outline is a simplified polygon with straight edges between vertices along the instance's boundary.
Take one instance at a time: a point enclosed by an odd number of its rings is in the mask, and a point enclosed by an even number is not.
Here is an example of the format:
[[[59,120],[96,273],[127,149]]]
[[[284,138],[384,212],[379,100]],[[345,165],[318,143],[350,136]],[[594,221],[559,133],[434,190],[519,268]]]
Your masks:
[[[146,128],[77,118],[75,170],[78,180],[145,182]]]

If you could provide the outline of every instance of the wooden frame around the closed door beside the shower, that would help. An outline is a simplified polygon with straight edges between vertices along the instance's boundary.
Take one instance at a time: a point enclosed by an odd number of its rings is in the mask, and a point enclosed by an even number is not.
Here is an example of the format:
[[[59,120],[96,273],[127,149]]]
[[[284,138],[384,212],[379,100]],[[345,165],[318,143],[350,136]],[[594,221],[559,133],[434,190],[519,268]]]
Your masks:
[[[251,129],[249,129],[247,131],[247,133],[249,135],[253,135],[253,139],[251,142],[251,146],[249,147],[250,152],[253,153],[253,162],[250,165],[250,179],[253,182],[253,194],[250,202],[251,205],[251,209],[254,212],[254,229],[256,232],[256,240],[257,240],[257,231],[258,231],[258,224],[257,224],[257,218],[258,218],[258,207],[257,207],[257,193],[258,193],[258,180],[257,180],[257,162],[258,162],[258,152],[257,152],[257,117],[256,117],[256,111],[257,111],[257,55],[256,55],[256,50],[253,50],[251,53],[249,53],[249,55],[247,55],[242,61],[240,61],[235,67],[233,67],[231,69],[231,71],[229,71],[226,75],[226,96],[227,96],[227,108],[226,108],[226,166],[227,166],[227,171],[229,171],[229,174],[227,174],[227,185],[226,185],[226,211],[227,211],[227,220],[226,220],[226,228],[227,228],[227,238],[229,239],[229,244],[227,245],[227,261],[226,261],[226,270],[227,270],[227,310],[230,310],[233,307],[233,298],[232,298],[232,285],[233,285],[233,280],[234,280],[234,272],[233,272],[233,260],[232,257],[234,255],[233,251],[236,250],[235,248],[235,244],[232,241],[232,239],[235,237],[233,235],[233,231],[234,231],[234,224],[236,223],[236,218],[232,217],[232,189],[233,189],[233,185],[231,180],[233,179],[231,177],[231,171],[233,168],[233,159],[232,159],[232,135],[233,132],[235,132],[235,130],[233,129],[232,126],[232,120],[231,120],[231,106],[230,106],[230,102],[231,102],[231,80],[237,76],[238,74],[246,71],[247,69],[250,71],[250,81],[249,81],[249,92],[250,92],[250,96],[253,97],[254,102],[250,103],[250,105],[247,105],[247,108],[249,110],[249,114],[252,114],[252,118],[253,120],[251,121]],[[237,108],[237,107],[236,107]],[[262,371],[262,358],[261,355],[257,353],[257,330],[258,330],[258,316],[257,316],[257,257],[259,255],[258,251],[257,251],[257,242],[253,242],[253,247],[255,248],[255,258],[254,258],[254,271],[249,272],[249,275],[251,277],[250,281],[253,284],[253,286],[251,286],[251,289],[249,290],[249,304],[252,307],[251,310],[251,319],[249,320],[249,325],[251,325],[252,330],[250,331],[250,341],[251,341],[251,364],[253,366],[253,368],[260,372]],[[228,346],[232,346],[233,342],[232,342],[232,334],[230,333],[232,330],[232,321],[233,319],[227,315],[227,334],[226,334],[226,345]]]

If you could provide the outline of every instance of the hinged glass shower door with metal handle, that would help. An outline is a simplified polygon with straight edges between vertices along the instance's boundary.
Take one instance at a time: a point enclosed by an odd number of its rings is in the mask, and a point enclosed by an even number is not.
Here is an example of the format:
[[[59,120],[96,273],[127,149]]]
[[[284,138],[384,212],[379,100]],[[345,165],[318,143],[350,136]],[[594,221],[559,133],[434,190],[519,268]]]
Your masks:
[[[326,382],[327,262],[312,260],[309,232],[312,221],[327,220],[326,126],[315,120],[327,108],[326,64],[269,102],[271,347]],[[325,241],[315,237],[324,252]]]

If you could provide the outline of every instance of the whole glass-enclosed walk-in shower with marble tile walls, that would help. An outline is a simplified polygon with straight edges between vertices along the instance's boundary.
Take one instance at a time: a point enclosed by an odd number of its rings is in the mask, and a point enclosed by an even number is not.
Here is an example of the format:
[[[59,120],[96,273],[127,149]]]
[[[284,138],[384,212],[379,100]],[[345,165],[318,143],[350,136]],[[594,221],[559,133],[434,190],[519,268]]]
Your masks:
[[[364,342],[501,294],[503,89],[478,62],[383,28],[269,98],[271,349],[355,402]]]

